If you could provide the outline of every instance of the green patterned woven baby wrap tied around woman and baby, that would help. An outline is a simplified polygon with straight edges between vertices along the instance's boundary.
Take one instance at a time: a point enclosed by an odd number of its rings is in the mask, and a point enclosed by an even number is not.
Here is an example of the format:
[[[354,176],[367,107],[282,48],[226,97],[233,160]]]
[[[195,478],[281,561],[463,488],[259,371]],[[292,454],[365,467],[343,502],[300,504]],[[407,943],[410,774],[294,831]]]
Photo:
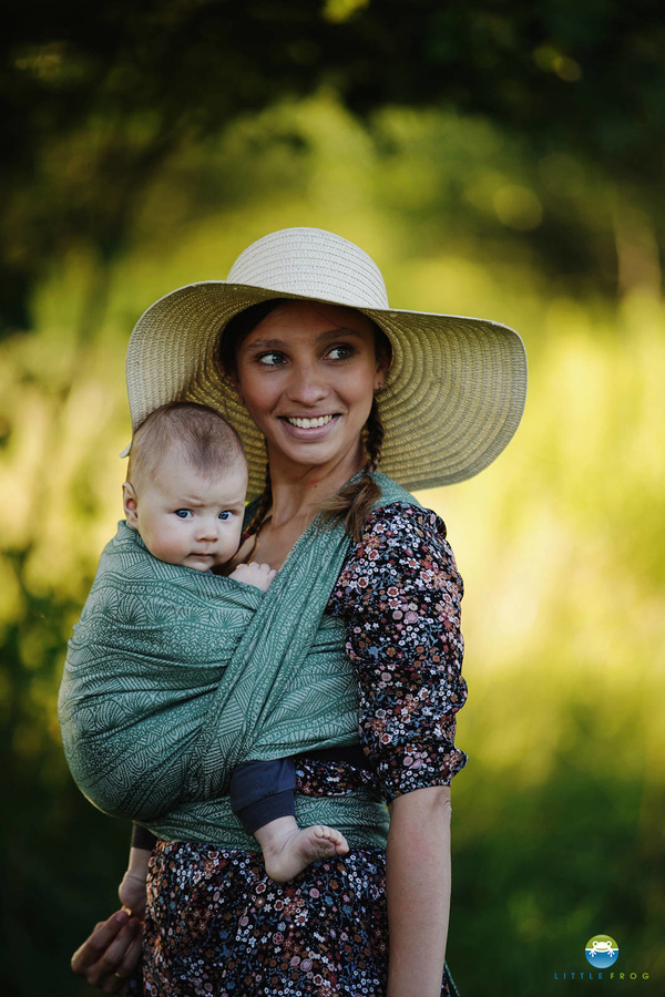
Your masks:
[[[375,507],[415,500],[375,474]],[[267,592],[154,558],[125,523],[106,546],[59,698],[66,759],[106,813],[161,839],[255,850],[231,811],[232,769],[358,743],[341,620],[325,616],[349,549],[341,524],[307,527]],[[296,796],[301,825],[385,846],[378,791]]]

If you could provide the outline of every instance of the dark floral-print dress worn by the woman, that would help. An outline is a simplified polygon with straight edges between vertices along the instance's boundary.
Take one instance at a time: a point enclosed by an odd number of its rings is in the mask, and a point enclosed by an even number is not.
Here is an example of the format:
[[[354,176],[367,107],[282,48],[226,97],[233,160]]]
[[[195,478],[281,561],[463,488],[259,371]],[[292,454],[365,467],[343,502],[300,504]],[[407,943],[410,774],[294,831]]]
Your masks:
[[[327,611],[345,620],[367,768],[298,758],[296,792],[386,801],[448,785],[454,746],[462,582],[446,527],[403,502],[372,513]],[[149,872],[144,993],[151,997],[381,997],[388,970],[386,853],[352,849],[288,883],[259,852],[158,842]],[[448,975],[441,993],[451,990]]]

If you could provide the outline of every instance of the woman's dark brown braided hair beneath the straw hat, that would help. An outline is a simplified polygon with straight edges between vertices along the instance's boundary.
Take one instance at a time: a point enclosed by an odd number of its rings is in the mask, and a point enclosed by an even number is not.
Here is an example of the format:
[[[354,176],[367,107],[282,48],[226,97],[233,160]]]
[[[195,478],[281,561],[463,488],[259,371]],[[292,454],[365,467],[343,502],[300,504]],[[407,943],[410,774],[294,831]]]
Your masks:
[[[237,374],[237,350],[244,339],[259,322],[267,318],[272,311],[288,300],[290,299],[272,298],[268,301],[253,305],[232,318],[219,339],[219,360],[224,368],[224,372],[228,377],[235,378]],[[390,346],[388,337],[376,322],[369,319],[369,317],[368,320],[374,328],[377,357],[386,359],[388,363],[390,363],[392,360],[392,347]],[[375,398],[372,399],[371,409],[364,430],[364,443],[368,460],[362,469],[362,473],[360,477],[347,482],[336,495],[326,502],[321,510],[324,520],[344,521],[346,532],[356,541],[360,539],[365,520],[371,512],[374,503],[381,494],[381,489],[374,479],[374,472],[378,469],[381,460],[383,434],[383,423],[381,422],[379,407]],[[270,484],[270,467],[266,464],[266,483],[256,512],[247,527],[249,533],[257,532],[272,503],[273,489]]]

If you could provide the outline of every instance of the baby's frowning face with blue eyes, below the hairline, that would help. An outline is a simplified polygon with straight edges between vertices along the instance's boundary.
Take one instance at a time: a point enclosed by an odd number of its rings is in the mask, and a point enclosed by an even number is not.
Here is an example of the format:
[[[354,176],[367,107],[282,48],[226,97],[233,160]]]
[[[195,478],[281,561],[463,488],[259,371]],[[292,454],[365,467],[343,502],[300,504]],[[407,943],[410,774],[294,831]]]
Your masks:
[[[247,466],[243,460],[208,480],[176,452],[140,481],[127,501],[127,523],[150,553],[168,564],[207,572],[231,561],[241,543]]]

